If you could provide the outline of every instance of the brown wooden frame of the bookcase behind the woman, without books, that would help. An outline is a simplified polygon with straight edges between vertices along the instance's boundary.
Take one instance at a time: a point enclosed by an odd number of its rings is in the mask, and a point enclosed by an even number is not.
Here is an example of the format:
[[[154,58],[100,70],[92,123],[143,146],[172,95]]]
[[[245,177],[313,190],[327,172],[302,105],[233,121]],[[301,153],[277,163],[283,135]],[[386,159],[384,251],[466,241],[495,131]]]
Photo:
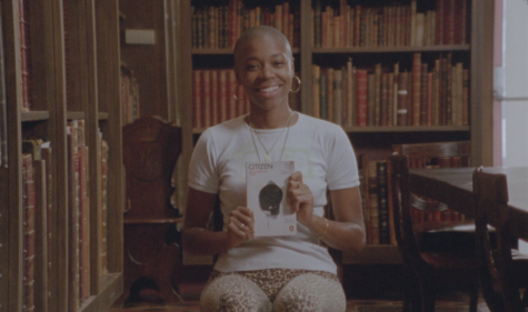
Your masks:
[[[242,1],[248,8],[271,7],[283,1]],[[432,59],[448,52],[456,53],[462,60],[465,68],[469,69],[469,124],[468,125],[415,125],[415,127],[343,127],[349,133],[356,153],[367,153],[385,158],[390,154],[391,145],[398,143],[428,142],[428,141],[471,141],[471,162],[474,165],[492,164],[492,20],[494,1],[468,0],[468,28],[469,40],[465,44],[442,44],[424,47],[351,47],[351,48],[315,48],[312,46],[312,6],[317,1],[297,0],[290,1],[290,8],[299,8],[300,18],[300,46],[293,47],[296,58],[296,71],[300,71],[302,80],[300,95],[300,111],[313,114],[312,97],[312,64],[336,67],[336,60],[341,60],[340,66],[346,64],[350,57],[353,66],[373,67],[375,63],[386,59],[395,59],[400,62],[400,71],[411,70],[412,54],[421,53],[425,62],[430,68]],[[321,7],[330,6],[338,10],[340,1],[321,0]],[[363,7],[392,6],[389,1],[346,1],[350,6]],[[401,1],[400,1],[401,2]],[[410,6],[409,1],[400,4]],[[421,4],[420,4],[421,2]],[[435,1],[434,1],[435,2]],[[193,119],[193,85],[192,76],[195,69],[202,68],[230,68],[232,67],[232,49],[195,49],[192,48],[192,28],[195,21],[191,18],[192,10],[205,6],[229,6],[231,1],[180,1],[179,24],[180,58],[179,69],[181,99],[187,103],[181,108],[181,120],[185,135],[191,135]],[[429,1],[418,0],[418,7],[435,8]],[[432,3],[432,2],[431,2]],[[206,14],[207,16],[207,14]],[[195,139],[200,129],[193,130]],[[188,137],[189,138],[189,137]],[[183,158],[188,159],[192,149],[183,150]],[[360,254],[345,254],[343,263],[398,263],[398,252],[392,245],[368,245]]]

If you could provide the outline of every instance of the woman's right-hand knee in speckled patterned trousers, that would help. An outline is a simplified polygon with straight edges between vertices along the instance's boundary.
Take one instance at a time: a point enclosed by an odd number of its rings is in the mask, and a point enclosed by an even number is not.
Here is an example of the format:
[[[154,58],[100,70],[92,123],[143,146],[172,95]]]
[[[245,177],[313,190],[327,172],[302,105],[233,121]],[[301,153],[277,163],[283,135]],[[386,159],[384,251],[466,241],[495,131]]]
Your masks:
[[[339,282],[316,274],[291,280],[277,295],[273,311],[345,311],[346,298]]]

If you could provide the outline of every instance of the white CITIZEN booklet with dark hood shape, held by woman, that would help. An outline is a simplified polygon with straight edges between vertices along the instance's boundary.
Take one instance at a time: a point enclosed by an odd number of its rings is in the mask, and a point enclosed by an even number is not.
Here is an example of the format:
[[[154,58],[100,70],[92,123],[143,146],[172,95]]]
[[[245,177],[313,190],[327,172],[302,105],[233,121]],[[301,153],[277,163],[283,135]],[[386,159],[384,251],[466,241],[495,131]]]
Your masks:
[[[290,212],[286,192],[293,161],[247,162],[247,204],[255,215],[256,236],[297,233],[297,214]]]

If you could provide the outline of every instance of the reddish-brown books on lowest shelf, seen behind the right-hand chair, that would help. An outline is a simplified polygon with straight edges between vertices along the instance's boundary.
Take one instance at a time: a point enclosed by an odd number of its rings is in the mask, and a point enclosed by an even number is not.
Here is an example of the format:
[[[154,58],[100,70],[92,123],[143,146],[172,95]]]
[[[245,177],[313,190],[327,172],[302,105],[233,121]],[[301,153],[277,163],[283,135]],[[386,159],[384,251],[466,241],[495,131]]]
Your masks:
[[[410,168],[456,168],[467,167],[468,160],[459,157],[436,159],[411,159]],[[393,207],[387,175],[387,160],[367,154],[358,154],[359,179],[361,183],[361,203],[368,244],[396,245],[393,229]],[[426,201],[431,201],[424,199]],[[465,215],[447,209],[441,212],[424,212],[412,209],[414,224],[431,227],[434,224],[465,221]]]

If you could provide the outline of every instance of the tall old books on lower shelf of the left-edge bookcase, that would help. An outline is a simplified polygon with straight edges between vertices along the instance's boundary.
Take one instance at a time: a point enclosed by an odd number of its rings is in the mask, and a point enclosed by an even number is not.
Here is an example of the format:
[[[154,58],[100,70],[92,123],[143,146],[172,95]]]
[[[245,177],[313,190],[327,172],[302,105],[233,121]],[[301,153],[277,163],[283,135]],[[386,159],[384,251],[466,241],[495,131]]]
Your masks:
[[[81,304],[90,296],[90,231],[100,231],[101,246],[100,263],[101,275],[107,274],[107,159],[108,145],[99,135],[100,155],[98,161],[101,168],[101,191],[102,197],[98,199],[101,210],[102,222],[99,229],[90,229],[90,188],[88,168],[88,147],[84,143],[84,120],[73,120],[68,122],[68,211],[69,211],[69,288],[71,290],[69,306],[77,311]],[[52,149],[49,141],[41,139],[22,140],[22,183],[23,183],[23,306],[24,311],[34,310],[34,280],[36,269],[40,263],[47,263],[48,275],[51,275],[51,254],[53,252],[52,236]],[[38,215],[44,215],[37,218]],[[46,222],[41,222],[46,220]],[[40,224],[38,222],[41,222]],[[46,243],[42,243],[46,240]],[[36,248],[46,245],[46,253],[36,253]],[[36,261],[36,256],[46,258]],[[52,292],[56,285],[49,284],[48,290]]]

